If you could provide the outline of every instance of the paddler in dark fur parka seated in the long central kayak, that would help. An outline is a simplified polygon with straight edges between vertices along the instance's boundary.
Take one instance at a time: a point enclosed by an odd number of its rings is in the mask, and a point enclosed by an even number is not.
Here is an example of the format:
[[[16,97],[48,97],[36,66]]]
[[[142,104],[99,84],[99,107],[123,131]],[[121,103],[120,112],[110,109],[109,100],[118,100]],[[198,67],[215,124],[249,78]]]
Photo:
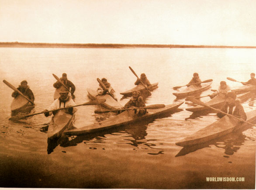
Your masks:
[[[132,98],[125,104],[125,108],[128,107],[144,107],[145,103],[143,101],[143,98],[140,97],[139,91],[133,91],[132,92]],[[146,109],[135,109],[135,114],[138,116],[142,116],[146,113]]]

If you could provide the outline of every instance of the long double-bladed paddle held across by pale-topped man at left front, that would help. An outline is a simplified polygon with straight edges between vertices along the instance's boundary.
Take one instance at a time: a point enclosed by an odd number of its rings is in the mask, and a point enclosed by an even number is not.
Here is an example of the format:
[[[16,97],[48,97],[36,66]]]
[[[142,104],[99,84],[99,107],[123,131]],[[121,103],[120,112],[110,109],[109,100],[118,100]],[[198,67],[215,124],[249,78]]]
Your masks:
[[[89,102],[86,102],[86,103],[83,103],[83,104],[79,104],[79,105],[75,105],[75,106],[71,106],[71,107],[77,107],[77,106],[87,106],[87,105],[97,105],[97,104],[102,104],[106,101],[106,99],[98,99],[98,100],[91,100]],[[47,112],[51,112],[51,111],[58,111],[58,110],[64,110],[64,109],[67,109],[66,107],[62,107],[62,108],[59,108],[59,109],[56,109],[56,110],[50,110],[50,111],[47,111]],[[39,113],[35,113],[35,114],[28,114],[28,115],[15,115],[13,117],[10,117],[9,120],[20,120],[20,119],[24,119],[26,117],[30,117],[30,116],[33,116],[33,115],[38,115],[38,114],[44,114],[44,113],[47,113],[47,112],[44,112],[44,111],[41,111]]]

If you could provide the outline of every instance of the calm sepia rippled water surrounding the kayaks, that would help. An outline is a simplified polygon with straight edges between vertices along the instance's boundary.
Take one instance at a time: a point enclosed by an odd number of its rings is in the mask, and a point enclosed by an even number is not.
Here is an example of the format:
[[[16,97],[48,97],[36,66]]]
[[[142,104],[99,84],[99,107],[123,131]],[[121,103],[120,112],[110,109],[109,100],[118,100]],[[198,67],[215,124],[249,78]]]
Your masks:
[[[217,89],[221,80],[232,88],[242,86],[226,77],[247,81],[256,72],[256,50],[0,48],[1,80],[14,86],[28,81],[36,104],[31,113],[52,103],[52,73],[67,73],[76,85],[76,104],[89,101],[86,88],[96,90],[96,78],[105,77],[124,105],[128,99],[119,93],[134,87],[136,80],[128,66],[138,75],[145,73],[151,83],[159,82],[146,104],[172,104],[185,101],[176,100],[172,87],[187,84],[194,72],[201,80],[213,79],[211,89]],[[61,138],[48,154],[43,127],[51,118],[41,114],[9,121],[12,90],[0,83],[0,91],[0,187],[255,188],[255,128],[184,150],[175,142],[218,119],[214,113],[190,118],[192,112],[185,108],[191,105],[184,103],[179,112],[147,124]],[[256,109],[255,95],[242,105],[246,111]],[[95,109],[79,107],[75,126],[114,116],[94,114]],[[245,177],[245,182],[207,182],[206,177]]]

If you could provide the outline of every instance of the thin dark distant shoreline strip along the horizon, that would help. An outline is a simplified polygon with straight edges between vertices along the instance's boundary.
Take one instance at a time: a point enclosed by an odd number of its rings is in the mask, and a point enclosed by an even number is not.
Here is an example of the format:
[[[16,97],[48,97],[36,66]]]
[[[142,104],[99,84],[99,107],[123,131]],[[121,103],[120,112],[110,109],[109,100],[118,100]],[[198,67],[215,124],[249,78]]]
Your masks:
[[[1,48],[256,48],[256,46],[226,45],[154,45],[154,44],[61,44],[0,42]]]

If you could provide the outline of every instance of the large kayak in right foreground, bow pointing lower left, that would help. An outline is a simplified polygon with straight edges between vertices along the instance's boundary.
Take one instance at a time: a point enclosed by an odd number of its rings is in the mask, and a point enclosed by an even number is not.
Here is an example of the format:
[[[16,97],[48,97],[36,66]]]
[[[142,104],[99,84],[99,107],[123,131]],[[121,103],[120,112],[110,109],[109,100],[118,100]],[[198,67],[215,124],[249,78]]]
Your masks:
[[[249,111],[246,113],[247,121],[250,123],[255,124],[256,122],[256,110]],[[208,142],[215,138],[221,137],[223,135],[227,135],[232,131],[237,131],[240,128],[249,126],[250,124],[243,123],[240,124],[239,120],[228,117],[227,115],[215,121],[214,123],[208,125],[205,128],[195,132],[194,134],[190,135],[189,137],[184,138],[180,142],[176,142],[178,146],[192,146],[201,144],[204,142]]]

